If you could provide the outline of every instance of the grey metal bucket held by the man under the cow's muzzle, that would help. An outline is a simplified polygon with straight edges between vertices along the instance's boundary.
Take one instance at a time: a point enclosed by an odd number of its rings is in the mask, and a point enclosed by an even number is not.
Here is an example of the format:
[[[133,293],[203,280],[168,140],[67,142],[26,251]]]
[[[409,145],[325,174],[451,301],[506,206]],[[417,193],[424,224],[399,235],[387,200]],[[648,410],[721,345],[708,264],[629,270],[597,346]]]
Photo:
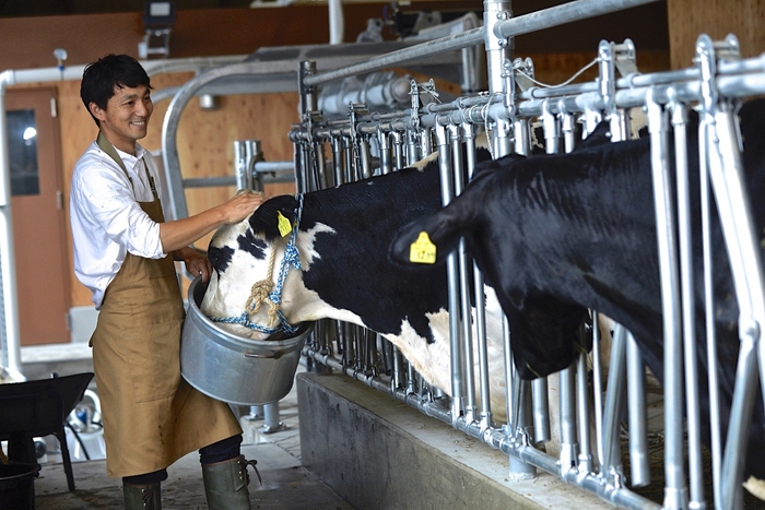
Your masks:
[[[189,305],[180,342],[180,373],[197,390],[238,405],[276,402],[292,389],[301,349],[313,322],[278,341],[251,340],[219,328],[200,310],[207,285],[189,286]]]

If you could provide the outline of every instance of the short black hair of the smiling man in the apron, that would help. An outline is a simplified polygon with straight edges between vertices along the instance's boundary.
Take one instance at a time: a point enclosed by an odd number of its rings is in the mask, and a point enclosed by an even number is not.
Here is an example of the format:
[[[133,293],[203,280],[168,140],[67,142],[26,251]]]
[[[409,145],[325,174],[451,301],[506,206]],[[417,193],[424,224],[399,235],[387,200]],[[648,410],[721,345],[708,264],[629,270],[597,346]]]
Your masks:
[[[138,60],[129,55],[107,55],[85,67],[80,85],[80,98],[85,109],[91,114],[90,104],[95,103],[99,108],[106,109],[109,98],[115,94],[115,87],[137,87],[145,85],[151,90],[149,74]],[[98,119],[91,114],[96,126]]]

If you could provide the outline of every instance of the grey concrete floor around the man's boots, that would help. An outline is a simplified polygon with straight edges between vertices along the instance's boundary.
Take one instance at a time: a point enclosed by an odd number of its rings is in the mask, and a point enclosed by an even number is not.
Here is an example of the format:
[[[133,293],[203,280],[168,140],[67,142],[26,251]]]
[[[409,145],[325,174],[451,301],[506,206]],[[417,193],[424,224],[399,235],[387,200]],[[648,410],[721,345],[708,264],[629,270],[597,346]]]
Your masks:
[[[301,368],[302,369],[302,368]],[[278,431],[263,434],[262,420],[240,418],[245,430],[243,453],[258,461],[263,479],[258,483],[251,467],[250,501],[254,509],[353,510],[339,496],[301,465],[301,440],[296,391],[280,402]],[[48,441],[49,442],[49,441]],[[72,463],[75,489],[67,489],[60,454],[48,452],[34,481],[36,510],[95,510],[122,508],[120,479],[106,476],[106,461]],[[164,510],[207,509],[202,471],[197,452],[189,453],[168,467],[169,477],[162,484]],[[9,509],[10,510],[10,509]]]

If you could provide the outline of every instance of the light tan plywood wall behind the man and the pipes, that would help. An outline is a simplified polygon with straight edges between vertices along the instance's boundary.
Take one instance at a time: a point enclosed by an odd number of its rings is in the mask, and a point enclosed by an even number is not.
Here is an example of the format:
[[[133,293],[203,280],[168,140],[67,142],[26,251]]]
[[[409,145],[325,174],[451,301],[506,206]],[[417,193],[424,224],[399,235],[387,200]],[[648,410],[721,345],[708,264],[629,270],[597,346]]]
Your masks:
[[[152,78],[152,87],[160,91],[178,86],[192,78],[191,73],[161,74]],[[80,83],[56,83],[59,91],[58,115],[61,126],[61,161],[67,217],[71,174],[76,159],[95,140],[97,128],[80,99]],[[162,149],[162,122],[168,100],[155,104],[149,133],[141,143],[151,151]],[[234,140],[260,140],[268,161],[292,159],[292,144],[287,139],[291,123],[297,119],[297,96],[294,93],[237,95],[221,98],[221,109],[203,111],[197,100],[187,105],[178,124],[178,155],[184,177],[214,177],[234,174]],[[227,200],[232,188],[189,190],[187,202],[190,214],[196,214]],[[270,185],[267,194],[294,193],[294,185]],[[209,236],[198,244],[205,248]],[[70,271],[72,241],[67,224],[67,253]],[[73,306],[89,306],[91,294],[70,274]]]

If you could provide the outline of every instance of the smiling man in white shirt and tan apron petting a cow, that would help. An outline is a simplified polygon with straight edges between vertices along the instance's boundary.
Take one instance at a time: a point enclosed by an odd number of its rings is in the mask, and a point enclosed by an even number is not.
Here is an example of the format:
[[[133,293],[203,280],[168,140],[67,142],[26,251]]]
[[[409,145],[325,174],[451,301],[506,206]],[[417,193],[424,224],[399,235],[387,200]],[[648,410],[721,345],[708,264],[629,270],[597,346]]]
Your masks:
[[[189,245],[240,222],[263,198],[237,194],[164,222],[156,165],[137,142],[154,109],[150,91],[144,69],[125,55],[89,64],[80,90],[99,132],[72,175],[74,273],[101,310],[91,346],[107,475],[122,478],[127,510],[161,509],[165,469],[199,450],[209,507],[249,509],[238,422],[180,377],[185,311],[173,260],[207,281],[210,262]]]

